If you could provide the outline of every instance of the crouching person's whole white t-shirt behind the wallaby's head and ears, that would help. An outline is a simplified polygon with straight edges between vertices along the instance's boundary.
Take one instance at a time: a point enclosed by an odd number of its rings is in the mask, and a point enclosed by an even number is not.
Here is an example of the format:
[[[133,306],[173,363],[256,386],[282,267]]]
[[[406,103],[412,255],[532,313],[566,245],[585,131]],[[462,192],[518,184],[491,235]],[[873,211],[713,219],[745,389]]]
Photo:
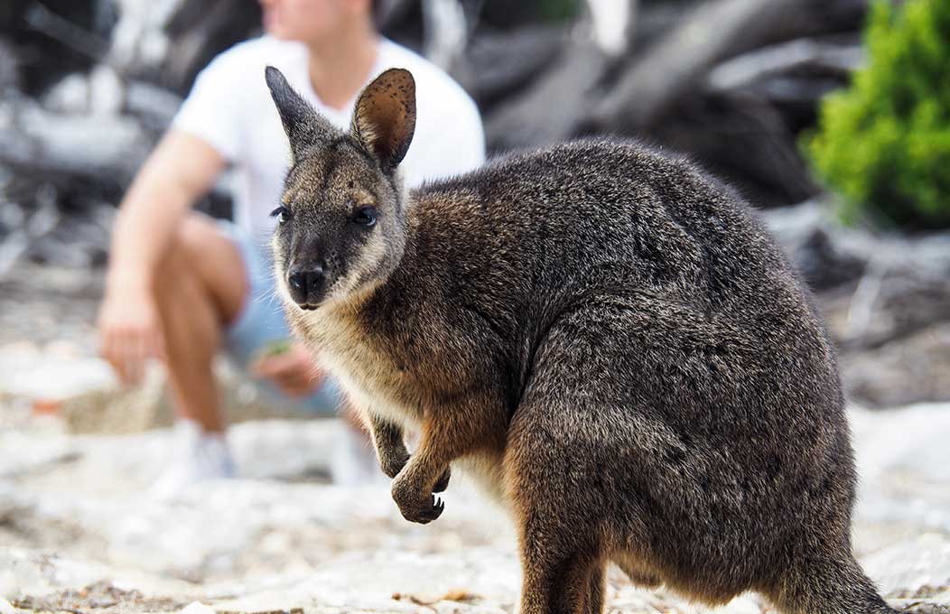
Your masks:
[[[235,222],[258,240],[269,237],[274,228],[268,214],[280,201],[291,160],[287,135],[264,81],[267,66],[279,68],[333,125],[349,128],[356,97],[341,110],[324,104],[310,83],[307,48],[269,36],[230,48],[201,70],[172,123],[233,164]],[[465,90],[425,58],[381,39],[370,81],[392,67],[408,68],[416,81],[415,135],[400,165],[407,185],[465,173],[484,163],[482,120]]]

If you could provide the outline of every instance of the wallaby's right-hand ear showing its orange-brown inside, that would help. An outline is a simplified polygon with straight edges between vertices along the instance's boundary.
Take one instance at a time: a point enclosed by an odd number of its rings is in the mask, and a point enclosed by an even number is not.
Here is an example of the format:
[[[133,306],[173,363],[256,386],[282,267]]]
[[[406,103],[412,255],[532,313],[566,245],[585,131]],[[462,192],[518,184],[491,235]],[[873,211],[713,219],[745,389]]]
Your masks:
[[[403,68],[390,68],[363,90],[351,125],[362,143],[391,173],[406,157],[415,132],[415,80]]]

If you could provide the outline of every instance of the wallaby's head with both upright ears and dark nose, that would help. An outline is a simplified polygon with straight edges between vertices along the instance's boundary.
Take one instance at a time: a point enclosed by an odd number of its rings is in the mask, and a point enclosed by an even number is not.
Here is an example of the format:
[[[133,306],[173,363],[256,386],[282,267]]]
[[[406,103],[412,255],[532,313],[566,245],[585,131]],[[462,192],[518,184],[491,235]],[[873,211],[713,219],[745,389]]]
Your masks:
[[[275,67],[267,86],[293,163],[273,248],[277,283],[303,309],[352,297],[385,279],[406,245],[396,170],[415,130],[415,82],[392,68],[360,94],[350,132],[321,117]]]

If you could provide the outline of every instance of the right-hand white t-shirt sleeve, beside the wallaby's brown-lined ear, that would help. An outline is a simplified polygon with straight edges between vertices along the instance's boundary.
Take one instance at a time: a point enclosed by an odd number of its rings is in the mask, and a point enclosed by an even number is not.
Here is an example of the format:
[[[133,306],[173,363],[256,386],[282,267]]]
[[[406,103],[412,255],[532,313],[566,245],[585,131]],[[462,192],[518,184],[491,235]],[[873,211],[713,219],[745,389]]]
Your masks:
[[[409,187],[461,175],[485,163],[485,131],[475,103],[462,96],[440,110],[410,146],[405,170]]]

